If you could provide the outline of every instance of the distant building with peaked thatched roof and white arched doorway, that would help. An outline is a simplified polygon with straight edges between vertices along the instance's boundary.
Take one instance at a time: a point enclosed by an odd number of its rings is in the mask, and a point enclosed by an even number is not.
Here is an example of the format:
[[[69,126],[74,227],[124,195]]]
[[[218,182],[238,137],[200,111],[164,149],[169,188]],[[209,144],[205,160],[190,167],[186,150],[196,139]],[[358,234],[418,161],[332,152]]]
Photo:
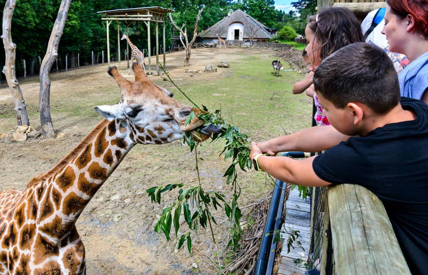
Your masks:
[[[268,41],[272,37],[268,27],[246,14],[240,9],[232,12],[216,24],[199,33],[198,38],[202,43],[217,41],[217,34],[224,40],[244,40],[250,39],[251,33],[253,40]]]

